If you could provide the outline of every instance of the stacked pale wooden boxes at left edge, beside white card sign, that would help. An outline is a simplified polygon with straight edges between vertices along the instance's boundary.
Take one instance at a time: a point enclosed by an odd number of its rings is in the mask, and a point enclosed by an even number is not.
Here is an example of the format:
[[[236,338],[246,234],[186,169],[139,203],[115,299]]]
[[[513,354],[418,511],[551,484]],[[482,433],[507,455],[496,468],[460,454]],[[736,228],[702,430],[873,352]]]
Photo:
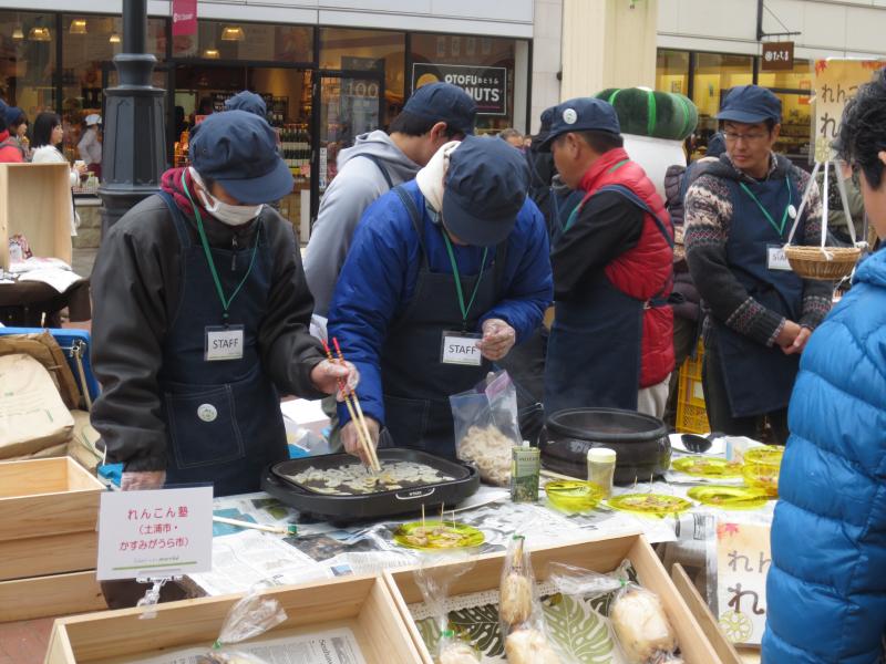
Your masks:
[[[0,622],[104,608],[95,581],[103,490],[69,457],[0,463]]]

